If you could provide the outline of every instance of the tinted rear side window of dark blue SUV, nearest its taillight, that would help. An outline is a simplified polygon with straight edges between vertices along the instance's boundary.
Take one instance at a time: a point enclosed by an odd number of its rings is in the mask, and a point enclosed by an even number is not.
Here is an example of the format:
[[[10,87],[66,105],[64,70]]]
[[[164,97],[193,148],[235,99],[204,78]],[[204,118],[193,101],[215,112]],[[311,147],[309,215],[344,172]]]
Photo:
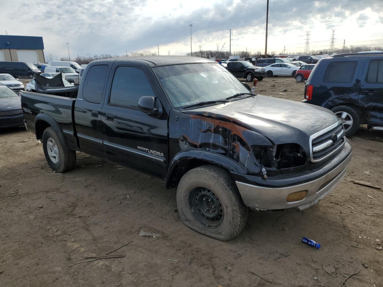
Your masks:
[[[354,80],[357,61],[331,62],[324,73],[325,83],[351,83]]]

